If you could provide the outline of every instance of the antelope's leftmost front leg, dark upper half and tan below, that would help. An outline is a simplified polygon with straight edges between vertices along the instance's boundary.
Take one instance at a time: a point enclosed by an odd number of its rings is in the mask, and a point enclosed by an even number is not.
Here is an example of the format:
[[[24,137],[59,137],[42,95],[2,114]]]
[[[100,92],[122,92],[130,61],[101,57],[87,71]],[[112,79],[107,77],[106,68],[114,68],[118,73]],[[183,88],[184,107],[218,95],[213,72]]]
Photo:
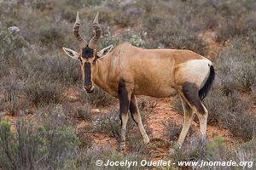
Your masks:
[[[121,120],[121,139],[119,149],[125,150],[125,133],[128,122],[128,109],[130,107],[131,93],[127,92],[124,81],[119,82],[119,117]]]

